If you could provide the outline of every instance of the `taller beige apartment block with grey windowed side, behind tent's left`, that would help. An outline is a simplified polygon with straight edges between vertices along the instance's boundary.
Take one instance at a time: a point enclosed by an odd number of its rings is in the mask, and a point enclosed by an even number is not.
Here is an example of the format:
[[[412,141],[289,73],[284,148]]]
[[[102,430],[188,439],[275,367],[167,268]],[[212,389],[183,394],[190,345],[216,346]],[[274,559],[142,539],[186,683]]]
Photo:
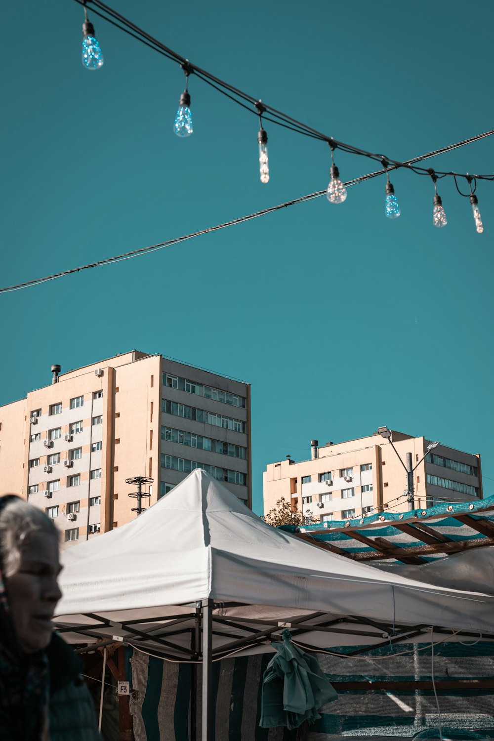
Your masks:
[[[47,511],[67,544],[136,516],[204,468],[251,506],[250,385],[132,350],[59,374],[0,407],[0,495]],[[52,370],[53,370],[52,368]]]

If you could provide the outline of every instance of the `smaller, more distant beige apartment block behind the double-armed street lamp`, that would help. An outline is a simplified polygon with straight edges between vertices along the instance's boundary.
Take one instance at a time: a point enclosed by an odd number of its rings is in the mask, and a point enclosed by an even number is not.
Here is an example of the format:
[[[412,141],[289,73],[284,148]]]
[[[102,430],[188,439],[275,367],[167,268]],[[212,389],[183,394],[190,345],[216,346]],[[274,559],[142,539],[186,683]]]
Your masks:
[[[263,475],[264,514],[281,497],[291,501],[293,511],[310,512],[320,522],[482,498],[480,455],[379,429],[384,436],[375,432],[321,447],[313,440],[309,460],[270,463]],[[413,502],[407,494],[407,453],[415,468]]]

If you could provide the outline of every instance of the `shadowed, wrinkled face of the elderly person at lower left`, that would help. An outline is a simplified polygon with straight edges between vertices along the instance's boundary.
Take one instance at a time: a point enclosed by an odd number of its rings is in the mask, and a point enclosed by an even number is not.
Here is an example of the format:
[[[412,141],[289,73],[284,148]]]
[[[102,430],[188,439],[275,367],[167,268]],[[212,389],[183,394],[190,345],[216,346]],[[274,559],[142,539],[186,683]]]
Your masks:
[[[58,539],[46,530],[37,531],[21,545],[19,569],[5,579],[16,635],[27,654],[50,643],[51,619],[61,597],[56,581],[60,569]]]

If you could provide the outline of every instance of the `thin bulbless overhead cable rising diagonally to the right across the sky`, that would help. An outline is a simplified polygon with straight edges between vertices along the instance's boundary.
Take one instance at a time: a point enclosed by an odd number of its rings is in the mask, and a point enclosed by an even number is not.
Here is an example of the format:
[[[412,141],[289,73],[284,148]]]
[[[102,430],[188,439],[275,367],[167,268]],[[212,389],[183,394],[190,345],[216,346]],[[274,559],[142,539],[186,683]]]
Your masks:
[[[79,0],[76,0],[76,1],[79,1]],[[411,165],[414,162],[421,162],[424,159],[429,159],[430,157],[435,157],[438,154],[442,154],[444,152],[457,149],[458,147],[463,147],[464,145],[470,144],[470,142],[476,141],[477,139],[482,139],[484,136],[487,136],[487,134],[479,134],[478,136],[474,136],[472,139],[465,139],[463,142],[457,142],[456,144],[450,144],[449,147],[443,147],[441,150],[434,150],[433,152],[429,152],[427,154],[421,154],[418,157],[409,159],[407,161],[407,164]],[[358,185],[358,183],[361,183],[371,178],[375,178],[377,176],[383,175],[385,172],[386,170],[384,169],[375,170],[375,172],[367,173],[366,175],[361,175],[358,178],[349,180],[344,185],[345,187],[351,187],[352,185]],[[316,199],[316,198],[321,198],[321,196],[324,196],[325,194],[326,194],[326,190],[316,190],[315,193],[309,193],[307,196],[301,196],[300,198],[296,198],[291,201],[286,201],[276,206],[264,208],[263,210],[256,211],[255,213],[250,213],[247,216],[240,216],[238,219],[233,219],[230,222],[224,222],[223,224],[218,224],[216,226],[209,227],[207,229],[201,229],[191,234],[185,234],[184,236],[176,237],[175,239],[168,239],[166,242],[158,242],[156,245],[150,245],[150,247],[141,247],[137,250],[131,250],[130,252],[122,253],[121,255],[107,257],[105,259],[97,260],[96,262],[90,262],[90,263],[87,263],[87,265],[80,265],[79,268],[70,268],[69,270],[61,270],[59,273],[53,273],[52,275],[45,276],[44,278],[35,278],[33,280],[25,281],[23,283],[18,283],[16,285],[7,286],[6,288],[0,288],[0,293],[11,293],[14,290],[21,290],[23,288],[32,288],[35,285],[40,285],[41,283],[46,283],[50,280],[55,280],[57,278],[63,278],[64,276],[71,275],[72,273],[79,273],[81,272],[81,270],[89,270],[90,268],[100,268],[102,265],[111,265],[114,262],[121,262],[123,260],[128,260],[133,257],[138,257],[141,255],[149,254],[151,252],[156,252],[157,250],[163,250],[165,247],[173,247],[173,245],[178,245],[181,242],[187,242],[188,239],[193,239],[196,236],[201,236],[201,234],[207,234],[210,232],[218,231],[220,229],[226,229],[227,227],[232,227],[237,224],[243,224],[244,222],[248,222],[253,219],[258,219],[260,216],[267,216],[268,213],[274,213],[276,211],[279,211],[283,208],[287,208],[289,206],[295,206],[299,203],[305,203],[307,201],[312,201],[313,199]]]

